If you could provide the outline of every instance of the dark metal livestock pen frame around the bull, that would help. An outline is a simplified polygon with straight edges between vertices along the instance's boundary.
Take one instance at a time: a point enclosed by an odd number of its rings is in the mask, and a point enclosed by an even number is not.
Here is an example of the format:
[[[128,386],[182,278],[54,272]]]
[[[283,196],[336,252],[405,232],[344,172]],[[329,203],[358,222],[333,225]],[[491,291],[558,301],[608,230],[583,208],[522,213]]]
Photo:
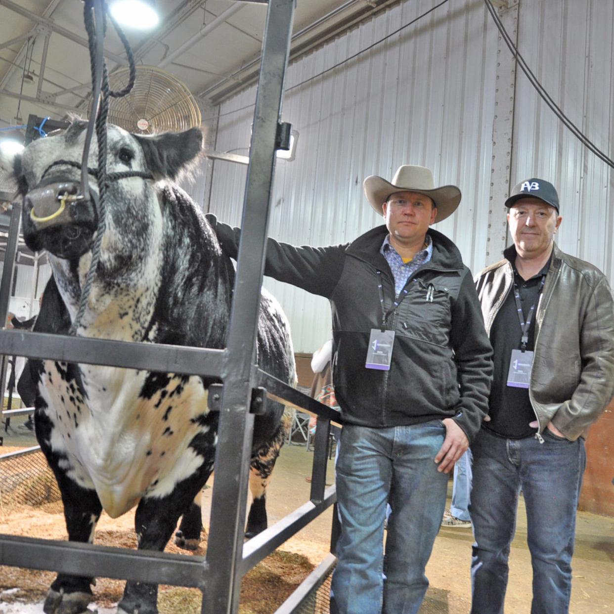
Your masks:
[[[338,414],[254,364],[275,152],[283,145],[284,133],[289,134],[289,125],[281,124],[279,119],[294,4],[295,0],[270,0],[267,7],[251,157],[244,195],[244,231],[239,245],[227,348],[216,350],[149,345],[0,328],[2,354],[209,375],[222,379],[223,384],[209,391],[211,408],[220,412],[220,421],[206,556],[152,553],[0,535],[0,564],[75,575],[192,586],[203,591],[203,612],[234,614],[238,612],[243,575],[335,503],[335,486],[326,491],[324,488],[330,419],[335,419]],[[20,214],[21,204],[14,203],[0,285],[2,326],[6,322],[9,306]],[[262,410],[267,396],[286,400],[318,416],[311,500],[244,544],[243,527],[254,413]],[[234,514],[229,513],[229,510],[234,510]],[[337,530],[336,514],[333,514],[333,542]],[[297,611],[334,564],[335,557],[329,554],[278,612]]]

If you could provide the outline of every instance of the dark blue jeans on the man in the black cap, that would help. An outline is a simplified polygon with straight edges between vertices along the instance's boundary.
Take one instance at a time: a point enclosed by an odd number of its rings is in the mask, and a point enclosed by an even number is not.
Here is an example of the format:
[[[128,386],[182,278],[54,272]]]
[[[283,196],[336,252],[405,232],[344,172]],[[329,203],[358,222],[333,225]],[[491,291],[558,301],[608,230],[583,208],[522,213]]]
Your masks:
[[[566,614],[572,586],[575,519],[586,465],[583,438],[568,441],[546,429],[505,439],[481,429],[473,445],[472,614],[502,614],[518,495],[527,510],[533,565],[531,614]]]

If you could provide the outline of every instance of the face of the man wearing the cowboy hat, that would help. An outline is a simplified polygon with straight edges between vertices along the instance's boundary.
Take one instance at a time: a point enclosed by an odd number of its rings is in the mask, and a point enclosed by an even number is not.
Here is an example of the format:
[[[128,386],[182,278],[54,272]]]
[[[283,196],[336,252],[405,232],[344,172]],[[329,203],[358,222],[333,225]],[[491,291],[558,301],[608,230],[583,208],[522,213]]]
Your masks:
[[[389,233],[401,243],[411,243],[426,235],[435,222],[437,207],[429,196],[417,192],[395,192],[384,203],[384,219]]]

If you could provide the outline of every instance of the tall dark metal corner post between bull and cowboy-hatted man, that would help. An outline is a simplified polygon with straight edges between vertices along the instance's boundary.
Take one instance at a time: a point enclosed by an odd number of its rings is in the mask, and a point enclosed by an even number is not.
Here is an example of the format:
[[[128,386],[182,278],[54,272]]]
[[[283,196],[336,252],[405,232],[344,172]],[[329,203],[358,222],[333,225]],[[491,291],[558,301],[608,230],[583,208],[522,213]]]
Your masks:
[[[254,111],[244,198],[235,295],[227,351],[216,450],[216,483],[207,546],[209,564],[203,612],[236,614],[241,588],[247,476],[254,417],[249,413],[255,373],[260,287],[295,0],[270,0]],[[219,470],[218,470],[219,469]],[[232,511],[231,511],[232,510]]]

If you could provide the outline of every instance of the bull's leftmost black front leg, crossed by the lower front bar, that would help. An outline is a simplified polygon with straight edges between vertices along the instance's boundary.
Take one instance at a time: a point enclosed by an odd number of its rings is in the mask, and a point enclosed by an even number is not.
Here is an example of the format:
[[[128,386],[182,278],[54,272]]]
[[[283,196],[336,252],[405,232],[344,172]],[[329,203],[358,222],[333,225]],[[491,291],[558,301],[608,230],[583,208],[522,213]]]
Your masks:
[[[96,491],[81,488],[65,476],[60,482],[60,491],[68,539],[71,542],[93,542],[94,529],[102,510]],[[91,577],[58,573],[45,599],[45,614],[89,612],[87,606],[93,599],[90,587],[92,581]]]

